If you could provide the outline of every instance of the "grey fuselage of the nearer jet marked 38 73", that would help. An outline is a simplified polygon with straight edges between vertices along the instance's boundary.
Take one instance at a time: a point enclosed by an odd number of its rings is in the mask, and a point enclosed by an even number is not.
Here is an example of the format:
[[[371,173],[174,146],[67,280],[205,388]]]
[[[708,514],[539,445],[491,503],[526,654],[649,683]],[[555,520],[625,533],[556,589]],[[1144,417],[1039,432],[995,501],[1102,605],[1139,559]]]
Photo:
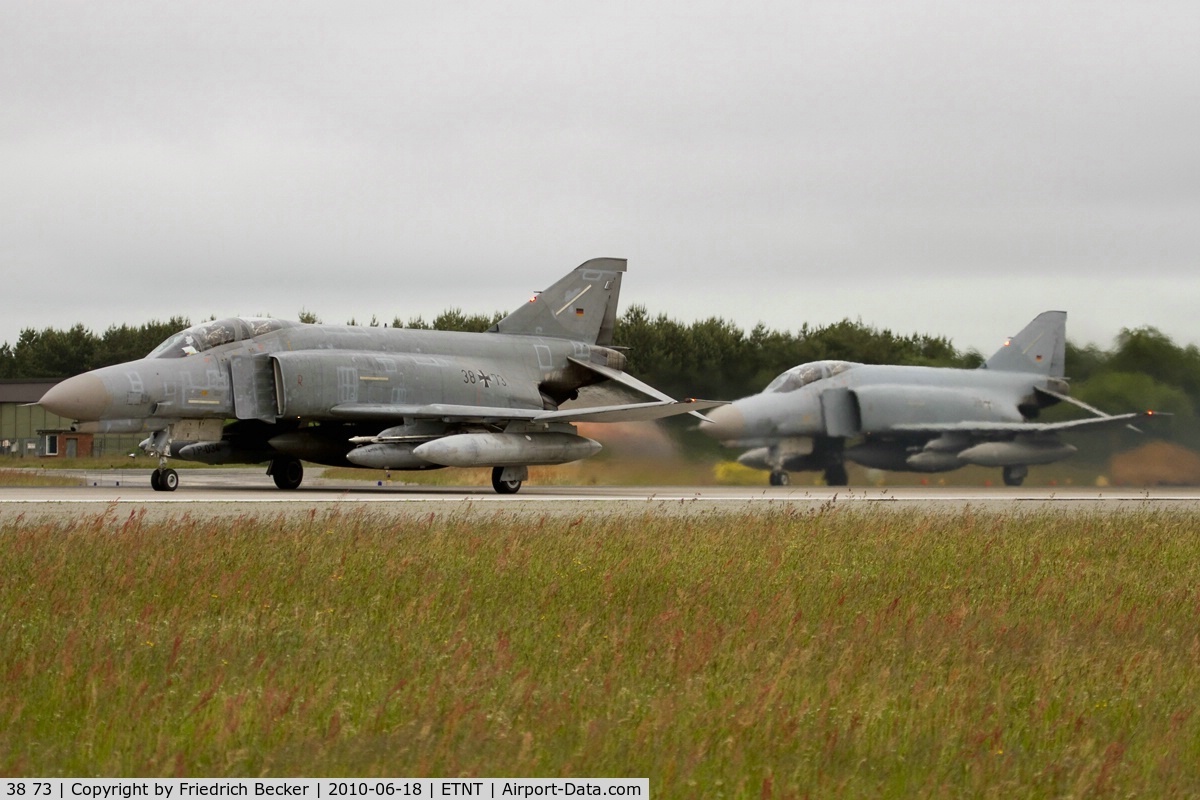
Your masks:
[[[230,321],[246,320],[206,325]],[[546,409],[594,380],[569,357],[624,361],[566,339],[270,323],[265,332],[203,348],[194,336],[192,344],[181,339],[185,331],[145,359],[62,381],[42,404],[96,432],[155,431],[180,420],[334,421],[346,419],[337,409],[362,404]]]

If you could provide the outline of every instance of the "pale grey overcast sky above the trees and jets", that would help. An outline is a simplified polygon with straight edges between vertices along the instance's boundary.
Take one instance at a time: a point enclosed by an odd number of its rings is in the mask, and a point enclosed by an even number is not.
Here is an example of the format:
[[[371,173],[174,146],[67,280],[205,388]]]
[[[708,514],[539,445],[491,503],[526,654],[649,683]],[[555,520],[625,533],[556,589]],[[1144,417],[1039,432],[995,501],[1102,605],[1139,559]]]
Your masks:
[[[684,321],[1200,343],[1200,4],[0,5],[0,342],[598,255]]]

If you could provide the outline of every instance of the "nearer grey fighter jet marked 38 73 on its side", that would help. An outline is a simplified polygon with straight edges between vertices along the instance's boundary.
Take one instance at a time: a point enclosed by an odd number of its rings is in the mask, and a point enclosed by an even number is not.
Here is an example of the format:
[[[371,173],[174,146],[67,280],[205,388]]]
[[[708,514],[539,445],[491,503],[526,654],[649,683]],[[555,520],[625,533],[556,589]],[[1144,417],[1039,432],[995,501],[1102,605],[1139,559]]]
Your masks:
[[[379,469],[490,467],[511,494],[534,464],[600,444],[576,422],[655,420],[720,405],[677,402],[624,372],[610,347],[624,259],[592,259],[487,332],[220,319],[145,359],[68,378],[40,404],[94,433],[150,435],[155,489],[175,457],[263,463],[282,489],[300,459]],[[697,416],[700,416],[697,414]],[[703,417],[701,417],[703,419]]]

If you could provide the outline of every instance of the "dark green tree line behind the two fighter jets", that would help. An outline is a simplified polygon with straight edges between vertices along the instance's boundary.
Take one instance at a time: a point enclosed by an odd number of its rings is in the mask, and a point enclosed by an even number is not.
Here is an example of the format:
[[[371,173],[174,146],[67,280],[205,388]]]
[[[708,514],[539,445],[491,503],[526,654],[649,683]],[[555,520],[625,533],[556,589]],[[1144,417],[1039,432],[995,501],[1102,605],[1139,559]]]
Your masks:
[[[390,325],[409,329],[485,331],[503,313],[466,314],[451,308],[431,321],[421,317]],[[300,320],[318,323],[312,312]],[[145,356],[162,341],[187,327],[173,317],[139,326],[113,325],[101,335],[74,325],[67,330],[23,330],[16,344],[0,344],[0,379],[53,379]],[[354,320],[350,320],[354,324]],[[380,325],[372,318],[370,325]],[[628,348],[629,372],[676,397],[733,399],[754,393],[776,374],[808,361],[840,359],[863,363],[977,367],[984,356],[958,350],[949,339],[899,335],[862,321],[803,325],[779,331],[760,324],[746,331],[709,318],[694,323],[652,314],[646,306],[626,307],[614,345]],[[1145,410],[1174,414],[1172,438],[1200,445],[1195,408],[1200,403],[1200,350],[1180,345],[1154,327],[1122,330],[1110,349],[1067,343],[1072,396],[1109,413]],[[1064,415],[1062,409],[1051,409]]]

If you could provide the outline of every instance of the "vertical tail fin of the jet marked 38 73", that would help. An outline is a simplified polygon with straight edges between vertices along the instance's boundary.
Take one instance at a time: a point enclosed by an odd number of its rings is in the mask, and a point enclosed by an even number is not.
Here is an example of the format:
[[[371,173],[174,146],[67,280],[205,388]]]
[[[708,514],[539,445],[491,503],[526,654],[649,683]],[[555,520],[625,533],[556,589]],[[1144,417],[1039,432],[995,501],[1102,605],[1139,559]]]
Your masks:
[[[612,344],[620,276],[625,266],[623,258],[584,261],[490,330],[493,333]]]

